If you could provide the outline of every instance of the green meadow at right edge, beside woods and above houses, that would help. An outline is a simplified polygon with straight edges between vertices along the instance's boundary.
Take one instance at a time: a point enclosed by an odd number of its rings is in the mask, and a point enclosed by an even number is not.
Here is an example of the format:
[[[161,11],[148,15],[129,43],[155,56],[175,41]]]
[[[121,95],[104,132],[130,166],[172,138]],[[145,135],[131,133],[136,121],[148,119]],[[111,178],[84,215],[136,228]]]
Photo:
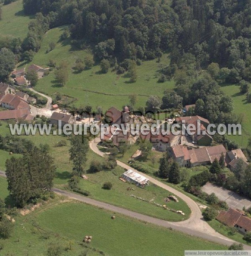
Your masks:
[[[246,102],[246,95],[240,93],[240,88],[238,85],[227,85],[221,87],[222,91],[228,96],[231,96],[234,104],[234,112],[236,115],[242,117],[242,135],[231,135],[229,138],[241,147],[246,147],[248,138],[251,137],[251,103]]]

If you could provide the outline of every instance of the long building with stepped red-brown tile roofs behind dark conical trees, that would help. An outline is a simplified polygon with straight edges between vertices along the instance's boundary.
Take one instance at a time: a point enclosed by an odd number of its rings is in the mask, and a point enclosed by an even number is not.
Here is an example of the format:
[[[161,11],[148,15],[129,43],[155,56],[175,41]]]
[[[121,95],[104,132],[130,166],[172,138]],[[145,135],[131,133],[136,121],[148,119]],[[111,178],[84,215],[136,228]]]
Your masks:
[[[177,145],[171,147],[169,153],[181,167],[195,167],[198,165],[208,165],[212,163],[215,158],[219,160],[222,153],[225,157],[226,149],[222,144],[197,149]]]

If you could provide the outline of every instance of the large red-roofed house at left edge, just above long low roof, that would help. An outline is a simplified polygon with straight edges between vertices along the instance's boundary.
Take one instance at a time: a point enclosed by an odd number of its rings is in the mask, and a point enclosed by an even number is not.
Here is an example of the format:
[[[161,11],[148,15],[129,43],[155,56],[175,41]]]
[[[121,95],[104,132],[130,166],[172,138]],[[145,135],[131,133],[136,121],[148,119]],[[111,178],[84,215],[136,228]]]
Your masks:
[[[18,110],[23,108],[30,109],[28,102],[26,102],[24,99],[20,98],[15,94],[6,94],[1,99],[0,104],[3,108],[7,108],[10,110]]]

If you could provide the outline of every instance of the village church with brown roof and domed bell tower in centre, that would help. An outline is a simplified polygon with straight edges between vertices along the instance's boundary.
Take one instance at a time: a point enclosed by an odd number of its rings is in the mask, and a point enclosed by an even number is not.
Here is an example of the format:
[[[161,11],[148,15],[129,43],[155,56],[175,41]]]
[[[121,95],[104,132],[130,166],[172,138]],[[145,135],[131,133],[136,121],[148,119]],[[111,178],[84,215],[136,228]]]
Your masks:
[[[123,111],[116,109],[115,107],[109,108],[106,112],[106,116],[110,119],[111,124],[126,124],[130,121],[130,111],[128,107],[123,107]]]

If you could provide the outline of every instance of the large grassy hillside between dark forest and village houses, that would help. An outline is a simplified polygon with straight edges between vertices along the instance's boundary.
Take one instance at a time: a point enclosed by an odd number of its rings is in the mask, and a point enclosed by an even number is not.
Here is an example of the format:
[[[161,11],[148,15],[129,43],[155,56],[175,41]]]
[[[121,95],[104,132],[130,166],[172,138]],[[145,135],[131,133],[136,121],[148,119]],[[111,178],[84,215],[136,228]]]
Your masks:
[[[44,36],[41,44],[41,49],[36,53],[32,63],[47,67],[49,60],[55,60],[57,64],[61,60],[67,60],[69,64],[69,80],[64,87],[58,86],[55,81],[54,74],[42,78],[38,81],[36,90],[46,94],[53,94],[56,91],[67,94],[77,101],[74,102],[76,106],[90,104],[92,107],[102,106],[108,109],[111,106],[121,108],[124,104],[128,103],[129,94],[138,94],[137,106],[145,106],[146,100],[149,95],[157,94],[161,96],[164,89],[173,89],[173,81],[166,83],[157,83],[156,70],[160,64],[169,63],[168,55],[164,55],[161,63],[156,63],[156,60],[145,61],[141,66],[137,66],[138,80],[136,83],[130,83],[126,74],[117,75],[115,72],[109,71],[107,74],[100,74],[100,66],[95,65],[90,70],[76,73],[72,69],[75,60],[80,57],[84,58],[85,55],[91,54],[88,50],[76,50],[71,44],[70,39],[63,42],[59,40],[60,35],[64,28],[55,28],[49,30]],[[56,43],[56,47],[49,53],[49,43]],[[31,63],[21,63],[20,66],[30,65]],[[95,91],[90,92],[90,91]],[[110,95],[105,95],[110,94]]]

